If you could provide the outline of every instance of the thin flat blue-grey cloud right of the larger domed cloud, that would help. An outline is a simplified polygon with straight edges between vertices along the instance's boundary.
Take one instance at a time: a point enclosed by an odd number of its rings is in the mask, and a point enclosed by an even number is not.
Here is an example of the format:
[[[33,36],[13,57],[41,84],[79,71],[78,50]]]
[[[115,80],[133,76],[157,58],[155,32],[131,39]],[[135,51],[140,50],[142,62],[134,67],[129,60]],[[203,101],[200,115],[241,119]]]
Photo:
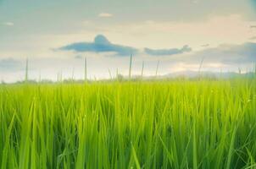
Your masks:
[[[184,52],[191,52],[192,48],[189,46],[183,46],[181,49],[178,48],[173,48],[173,49],[150,49],[150,48],[145,48],[144,51],[148,55],[153,55],[153,56],[164,56],[164,55],[175,55],[175,54],[181,54]]]

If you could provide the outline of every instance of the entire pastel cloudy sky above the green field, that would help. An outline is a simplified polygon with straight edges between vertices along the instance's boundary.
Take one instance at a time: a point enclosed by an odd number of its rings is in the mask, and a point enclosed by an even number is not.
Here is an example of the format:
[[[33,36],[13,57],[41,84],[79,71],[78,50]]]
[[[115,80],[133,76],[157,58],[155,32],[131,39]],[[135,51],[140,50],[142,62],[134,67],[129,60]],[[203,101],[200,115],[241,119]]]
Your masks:
[[[0,79],[197,71],[248,72],[256,0],[0,0]]]

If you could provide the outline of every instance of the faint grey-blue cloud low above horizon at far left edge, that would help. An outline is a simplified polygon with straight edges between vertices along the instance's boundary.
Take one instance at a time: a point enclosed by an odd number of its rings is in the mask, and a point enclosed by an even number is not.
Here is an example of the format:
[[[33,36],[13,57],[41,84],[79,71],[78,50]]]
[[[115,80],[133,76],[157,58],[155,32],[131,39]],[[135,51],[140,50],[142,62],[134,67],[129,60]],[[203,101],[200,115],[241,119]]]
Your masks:
[[[22,68],[22,63],[14,60],[13,58],[2,58],[0,59],[0,70],[1,71],[15,71]]]

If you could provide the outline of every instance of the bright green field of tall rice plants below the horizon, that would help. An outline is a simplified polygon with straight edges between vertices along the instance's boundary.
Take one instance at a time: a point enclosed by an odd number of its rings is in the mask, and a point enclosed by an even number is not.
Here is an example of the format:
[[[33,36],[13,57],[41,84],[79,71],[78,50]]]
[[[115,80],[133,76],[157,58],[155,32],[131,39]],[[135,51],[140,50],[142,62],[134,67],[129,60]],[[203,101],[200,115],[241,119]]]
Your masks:
[[[255,168],[256,79],[1,85],[0,167]]]

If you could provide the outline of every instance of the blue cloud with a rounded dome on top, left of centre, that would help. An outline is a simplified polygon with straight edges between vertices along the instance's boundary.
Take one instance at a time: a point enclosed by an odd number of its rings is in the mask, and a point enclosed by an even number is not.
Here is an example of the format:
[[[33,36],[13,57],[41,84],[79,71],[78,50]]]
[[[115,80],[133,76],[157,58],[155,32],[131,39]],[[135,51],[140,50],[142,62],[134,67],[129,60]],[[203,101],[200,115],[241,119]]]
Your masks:
[[[120,56],[129,56],[137,49],[131,46],[121,46],[111,43],[104,35],[97,35],[93,42],[78,42],[59,48],[64,51],[75,52],[116,52]]]

